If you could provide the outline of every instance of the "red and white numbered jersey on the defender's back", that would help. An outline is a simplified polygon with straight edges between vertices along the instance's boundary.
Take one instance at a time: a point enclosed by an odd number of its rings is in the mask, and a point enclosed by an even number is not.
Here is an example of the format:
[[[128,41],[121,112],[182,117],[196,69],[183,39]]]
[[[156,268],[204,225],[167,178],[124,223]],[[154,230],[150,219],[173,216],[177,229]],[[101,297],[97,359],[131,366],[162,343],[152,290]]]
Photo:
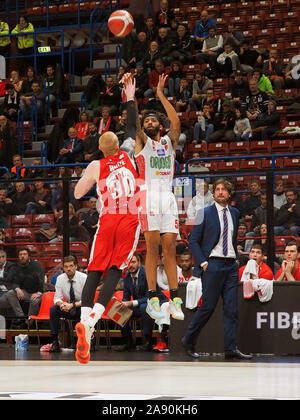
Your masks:
[[[100,216],[110,214],[137,214],[138,203],[133,197],[137,192],[138,174],[127,153],[100,159],[97,183],[98,211]],[[131,202],[130,202],[131,200]]]

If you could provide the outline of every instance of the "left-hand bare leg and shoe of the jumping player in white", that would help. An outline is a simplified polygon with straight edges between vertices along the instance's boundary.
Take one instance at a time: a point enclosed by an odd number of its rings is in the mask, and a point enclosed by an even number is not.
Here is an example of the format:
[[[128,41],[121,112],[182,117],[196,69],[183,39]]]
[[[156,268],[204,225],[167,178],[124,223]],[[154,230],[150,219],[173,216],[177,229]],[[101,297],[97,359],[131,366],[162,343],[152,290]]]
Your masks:
[[[162,318],[163,315],[160,311],[159,300],[156,292],[157,281],[157,261],[159,255],[160,233],[157,230],[144,232],[146,240],[146,261],[145,270],[148,283],[148,304],[147,313],[153,319]]]

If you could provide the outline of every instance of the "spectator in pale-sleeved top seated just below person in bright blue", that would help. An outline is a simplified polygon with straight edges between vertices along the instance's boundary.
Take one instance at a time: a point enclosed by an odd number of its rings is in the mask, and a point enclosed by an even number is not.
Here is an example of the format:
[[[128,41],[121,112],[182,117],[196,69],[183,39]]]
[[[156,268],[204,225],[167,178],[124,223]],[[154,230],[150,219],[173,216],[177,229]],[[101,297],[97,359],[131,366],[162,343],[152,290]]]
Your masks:
[[[222,52],[223,37],[216,34],[216,28],[210,27],[208,30],[208,38],[204,39],[201,52],[196,55],[196,63],[208,63],[212,71],[212,77],[216,77],[217,73],[217,57]]]

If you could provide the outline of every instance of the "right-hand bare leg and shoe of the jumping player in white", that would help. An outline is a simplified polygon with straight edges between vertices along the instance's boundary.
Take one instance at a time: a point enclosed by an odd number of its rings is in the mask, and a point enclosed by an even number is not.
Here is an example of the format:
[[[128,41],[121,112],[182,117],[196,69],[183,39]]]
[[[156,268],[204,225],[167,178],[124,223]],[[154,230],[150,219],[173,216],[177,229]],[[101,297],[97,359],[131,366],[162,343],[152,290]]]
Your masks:
[[[178,278],[176,263],[176,233],[167,232],[161,236],[162,252],[164,256],[164,268],[167,275],[170,290],[170,313],[175,319],[184,319],[181,310],[182,300],[178,297]]]

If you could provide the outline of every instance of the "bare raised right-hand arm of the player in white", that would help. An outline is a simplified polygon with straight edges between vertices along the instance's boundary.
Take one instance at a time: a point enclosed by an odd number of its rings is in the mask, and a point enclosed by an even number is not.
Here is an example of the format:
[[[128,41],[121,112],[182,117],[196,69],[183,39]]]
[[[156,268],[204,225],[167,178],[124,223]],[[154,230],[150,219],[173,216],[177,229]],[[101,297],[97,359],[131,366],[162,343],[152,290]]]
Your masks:
[[[162,74],[159,76],[158,85],[157,85],[157,92],[156,95],[158,99],[161,101],[168,118],[171,123],[170,130],[168,132],[168,136],[173,145],[173,149],[176,150],[177,142],[180,136],[180,119],[177,115],[177,112],[171,102],[164,95],[164,86],[168,75]]]

